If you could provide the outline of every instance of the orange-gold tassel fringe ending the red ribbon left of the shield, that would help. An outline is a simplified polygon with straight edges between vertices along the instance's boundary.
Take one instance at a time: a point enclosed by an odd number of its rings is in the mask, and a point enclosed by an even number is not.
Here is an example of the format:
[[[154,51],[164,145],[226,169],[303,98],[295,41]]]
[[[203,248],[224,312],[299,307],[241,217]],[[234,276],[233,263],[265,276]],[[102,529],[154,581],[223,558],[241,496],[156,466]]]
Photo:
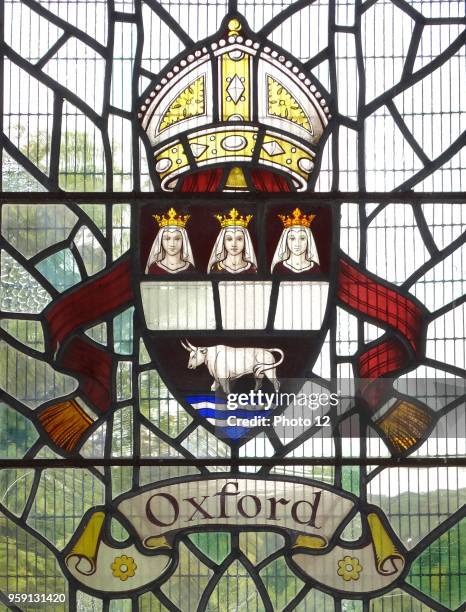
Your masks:
[[[68,452],[94,422],[74,399],[49,406],[40,413],[39,421],[51,440]]]

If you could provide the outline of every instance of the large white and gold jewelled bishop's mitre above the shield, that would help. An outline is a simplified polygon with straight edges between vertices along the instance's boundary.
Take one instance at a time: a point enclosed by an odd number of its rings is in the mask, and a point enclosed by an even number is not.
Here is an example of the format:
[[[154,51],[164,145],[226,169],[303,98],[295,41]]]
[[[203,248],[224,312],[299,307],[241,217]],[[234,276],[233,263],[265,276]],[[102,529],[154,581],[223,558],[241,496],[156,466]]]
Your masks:
[[[331,114],[306,67],[235,14],[151,83],[138,117],[164,191],[219,166],[276,172],[304,191]]]

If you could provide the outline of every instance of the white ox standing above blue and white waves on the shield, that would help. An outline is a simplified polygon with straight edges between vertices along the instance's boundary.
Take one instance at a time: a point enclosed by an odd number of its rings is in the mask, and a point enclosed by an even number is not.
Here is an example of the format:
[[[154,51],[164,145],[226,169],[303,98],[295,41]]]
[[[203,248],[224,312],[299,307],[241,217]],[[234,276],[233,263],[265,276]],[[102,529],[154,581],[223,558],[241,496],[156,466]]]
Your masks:
[[[225,346],[193,346],[188,340],[181,340],[181,346],[189,352],[188,368],[194,370],[205,364],[213,377],[211,390],[217,391],[221,386],[225,393],[230,393],[230,382],[246,374],[252,374],[256,380],[257,391],[262,386],[264,376],[273,384],[275,391],[280,388],[277,378],[277,367],[285,357],[278,348],[246,348]],[[276,361],[273,353],[280,358]]]

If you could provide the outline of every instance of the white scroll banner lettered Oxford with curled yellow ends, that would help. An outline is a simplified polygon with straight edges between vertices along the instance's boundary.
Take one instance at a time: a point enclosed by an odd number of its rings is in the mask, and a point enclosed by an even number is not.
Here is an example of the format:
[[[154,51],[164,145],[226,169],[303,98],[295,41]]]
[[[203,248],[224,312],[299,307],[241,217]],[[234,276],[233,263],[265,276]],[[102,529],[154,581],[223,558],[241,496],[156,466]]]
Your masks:
[[[292,559],[301,575],[343,592],[376,591],[399,576],[405,560],[375,510],[365,517],[370,537],[347,546],[333,541],[356,502],[344,491],[291,479],[168,481],[117,500],[117,516],[133,532],[130,545],[105,541],[112,517],[95,508],[65,551],[65,564],[92,591],[130,592],[168,574],[171,542],[183,531],[283,530],[294,536]]]

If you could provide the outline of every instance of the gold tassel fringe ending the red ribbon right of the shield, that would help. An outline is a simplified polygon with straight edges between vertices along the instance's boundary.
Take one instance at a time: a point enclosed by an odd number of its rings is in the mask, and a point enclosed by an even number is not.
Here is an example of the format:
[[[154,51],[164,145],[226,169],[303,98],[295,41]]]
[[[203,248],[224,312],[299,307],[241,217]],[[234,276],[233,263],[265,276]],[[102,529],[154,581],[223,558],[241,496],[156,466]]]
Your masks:
[[[398,400],[377,425],[393,448],[405,453],[420,442],[432,423],[430,414],[405,400]]]

